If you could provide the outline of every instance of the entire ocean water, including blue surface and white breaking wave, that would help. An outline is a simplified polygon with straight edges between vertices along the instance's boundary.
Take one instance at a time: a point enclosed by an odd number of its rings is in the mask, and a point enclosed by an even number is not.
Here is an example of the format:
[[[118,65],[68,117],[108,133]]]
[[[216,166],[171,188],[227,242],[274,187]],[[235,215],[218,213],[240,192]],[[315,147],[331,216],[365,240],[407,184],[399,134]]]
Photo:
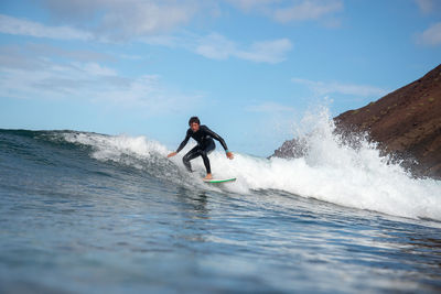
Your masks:
[[[322,120],[295,160],[0,130],[0,293],[440,293],[441,183]]]

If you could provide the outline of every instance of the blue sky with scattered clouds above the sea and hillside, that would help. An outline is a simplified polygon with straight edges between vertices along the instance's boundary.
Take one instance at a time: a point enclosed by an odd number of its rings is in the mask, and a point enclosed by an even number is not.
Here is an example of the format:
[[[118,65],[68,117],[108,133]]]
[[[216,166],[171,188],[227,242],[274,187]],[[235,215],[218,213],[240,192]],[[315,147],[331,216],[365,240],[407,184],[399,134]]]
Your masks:
[[[3,0],[0,128],[175,149],[198,116],[269,155],[305,111],[362,107],[440,57],[440,0]]]

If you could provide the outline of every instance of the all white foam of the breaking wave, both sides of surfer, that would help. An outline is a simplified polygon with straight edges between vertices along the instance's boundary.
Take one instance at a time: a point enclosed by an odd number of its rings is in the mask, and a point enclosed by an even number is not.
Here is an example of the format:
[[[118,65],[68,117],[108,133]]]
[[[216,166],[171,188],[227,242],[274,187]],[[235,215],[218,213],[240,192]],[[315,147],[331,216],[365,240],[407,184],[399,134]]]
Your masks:
[[[326,110],[305,121],[313,121],[315,129],[309,135],[304,134],[309,148],[304,157],[267,160],[236,153],[235,160],[229,161],[224,152],[215,151],[209,155],[214,176],[237,177],[238,181],[227,185],[237,193],[280,189],[346,207],[441,220],[441,181],[411,177],[400,165],[388,164],[388,159],[381,157],[376,145],[367,140],[361,139],[357,149],[342,144],[333,134],[335,127]],[[309,127],[304,129],[311,130]],[[95,150],[93,156],[97,160],[111,160],[136,167],[140,167],[137,159],[158,162],[170,152],[144,137],[68,133],[65,139],[92,145]],[[181,162],[187,149],[170,159],[175,164],[164,164],[168,160],[161,162],[158,168],[174,168],[163,172],[162,176],[179,173],[184,181],[187,178]],[[126,155],[132,155],[129,156],[131,160],[128,161]],[[201,159],[192,161],[192,164],[196,171],[204,172]],[[176,166],[181,170],[175,171]],[[187,182],[195,182],[193,177]]]

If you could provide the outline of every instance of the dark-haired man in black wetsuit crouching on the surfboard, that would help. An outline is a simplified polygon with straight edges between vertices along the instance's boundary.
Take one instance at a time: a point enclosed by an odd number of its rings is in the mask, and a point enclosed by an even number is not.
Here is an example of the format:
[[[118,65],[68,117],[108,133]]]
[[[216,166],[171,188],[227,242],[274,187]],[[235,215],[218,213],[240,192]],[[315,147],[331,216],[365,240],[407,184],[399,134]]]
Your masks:
[[[228,151],[227,144],[225,143],[224,139],[222,139],[220,135],[218,135],[217,133],[209,130],[208,127],[201,126],[201,121],[197,117],[190,118],[189,126],[190,129],[186,131],[184,141],[182,141],[182,143],[179,145],[176,152],[170,153],[168,157],[176,155],[178,152],[180,152],[186,145],[190,138],[193,138],[197,142],[197,145],[190,150],[189,153],[184,155],[182,161],[189,172],[192,172],[192,165],[190,164],[190,161],[194,160],[197,156],[202,156],[205,170],[207,172],[207,175],[204,179],[212,179],[213,176],[209,166],[208,153],[211,153],[216,148],[213,139],[219,141],[228,159],[233,160],[234,155],[230,151]]]

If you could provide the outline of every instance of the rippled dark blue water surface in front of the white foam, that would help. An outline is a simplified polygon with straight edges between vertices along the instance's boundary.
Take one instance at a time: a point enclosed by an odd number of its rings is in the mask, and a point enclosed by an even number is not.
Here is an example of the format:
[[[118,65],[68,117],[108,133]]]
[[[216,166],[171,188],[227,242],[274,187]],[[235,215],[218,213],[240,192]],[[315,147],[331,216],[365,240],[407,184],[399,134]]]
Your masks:
[[[1,293],[441,292],[435,220],[168,181],[45,135],[0,137]]]

